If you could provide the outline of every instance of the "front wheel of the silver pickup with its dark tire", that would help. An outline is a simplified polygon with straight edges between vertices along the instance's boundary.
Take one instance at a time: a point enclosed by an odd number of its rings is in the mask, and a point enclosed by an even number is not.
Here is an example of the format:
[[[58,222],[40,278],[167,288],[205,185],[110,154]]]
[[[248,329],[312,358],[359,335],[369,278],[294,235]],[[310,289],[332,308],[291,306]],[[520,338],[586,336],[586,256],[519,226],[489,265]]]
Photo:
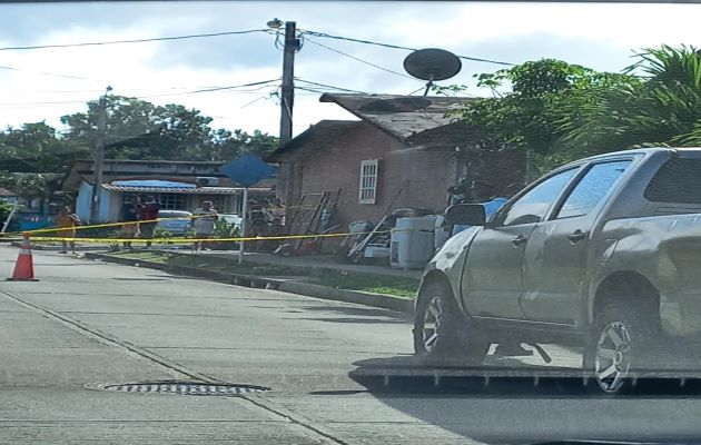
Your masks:
[[[430,365],[482,365],[490,343],[476,335],[447,284],[422,286],[414,316],[414,352]]]

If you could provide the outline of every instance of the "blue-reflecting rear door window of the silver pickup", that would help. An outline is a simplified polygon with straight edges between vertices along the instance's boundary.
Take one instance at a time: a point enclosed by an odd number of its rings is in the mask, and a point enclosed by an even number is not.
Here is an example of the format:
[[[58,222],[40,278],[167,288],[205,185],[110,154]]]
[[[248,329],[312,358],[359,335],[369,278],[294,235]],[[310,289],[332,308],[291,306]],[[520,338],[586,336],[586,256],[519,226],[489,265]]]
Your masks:
[[[574,218],[592,211],[630,164],[630,160],[621,160],[593,165],[574,187],[555,218]]]

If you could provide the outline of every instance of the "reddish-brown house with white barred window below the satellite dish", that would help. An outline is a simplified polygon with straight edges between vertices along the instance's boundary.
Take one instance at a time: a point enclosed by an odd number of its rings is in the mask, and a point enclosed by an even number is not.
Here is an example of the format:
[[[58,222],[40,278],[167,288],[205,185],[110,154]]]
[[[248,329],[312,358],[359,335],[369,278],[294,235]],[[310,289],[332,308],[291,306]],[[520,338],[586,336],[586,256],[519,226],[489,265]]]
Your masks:
[[[440,212],[447,188],[464,178],[498,189],[523,182],[522,154],[490,149],[483,131],[445,116],[465,100],[323,95],[361,120],[322,120],[273,152],[278,196],[294,206],[303,195],[340,188],[336,222],[347,225],[402,207]]]

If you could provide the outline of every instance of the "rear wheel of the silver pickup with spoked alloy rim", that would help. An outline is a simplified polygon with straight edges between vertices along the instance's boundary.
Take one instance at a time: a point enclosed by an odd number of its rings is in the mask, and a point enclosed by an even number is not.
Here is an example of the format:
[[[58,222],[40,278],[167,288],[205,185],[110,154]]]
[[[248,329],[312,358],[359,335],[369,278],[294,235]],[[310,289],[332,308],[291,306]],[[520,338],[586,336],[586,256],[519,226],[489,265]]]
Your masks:
[[[640,370],[656,366],[661,329],[654,309],[610,303],[594,315],[583,360],[590,389],[629,393]]]

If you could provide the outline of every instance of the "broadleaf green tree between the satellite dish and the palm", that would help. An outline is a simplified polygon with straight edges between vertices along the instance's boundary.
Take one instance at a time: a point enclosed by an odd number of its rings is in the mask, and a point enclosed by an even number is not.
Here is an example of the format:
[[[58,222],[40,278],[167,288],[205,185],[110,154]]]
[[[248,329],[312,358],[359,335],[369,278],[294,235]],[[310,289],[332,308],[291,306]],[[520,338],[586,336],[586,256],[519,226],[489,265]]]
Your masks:
[[[494,97],[466,101],[455,115],[485,128],[487,146],[526,151],[527,179],[588,155],[584,148],[562,144],[566,122],[601,107],[609,91],[640,82],[625,73],[599,72],[555,59],[476,77],[477,86],[488,88]],[[500,92],[504,89],[510,91]]]

